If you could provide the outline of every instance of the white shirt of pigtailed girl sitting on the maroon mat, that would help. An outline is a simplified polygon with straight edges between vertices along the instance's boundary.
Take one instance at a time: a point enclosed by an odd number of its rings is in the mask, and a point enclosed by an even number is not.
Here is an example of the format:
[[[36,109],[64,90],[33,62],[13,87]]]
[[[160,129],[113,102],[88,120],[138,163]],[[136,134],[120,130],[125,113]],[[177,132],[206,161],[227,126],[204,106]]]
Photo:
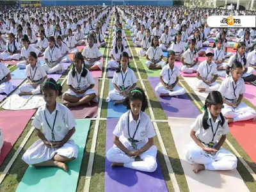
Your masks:
[[[91,72],[88,69],[86,70],[87,74],[85,77],[81,77],[83,69],[81,70],[80,74],[76,70],[76,75],[74,77],[72,76],[72,70],[70,70],[68,72],[67,85],[71,85],[75,89],[79,86],[81,90],[86,90],[86,88],[88,88],[91,84],[95,84]]]

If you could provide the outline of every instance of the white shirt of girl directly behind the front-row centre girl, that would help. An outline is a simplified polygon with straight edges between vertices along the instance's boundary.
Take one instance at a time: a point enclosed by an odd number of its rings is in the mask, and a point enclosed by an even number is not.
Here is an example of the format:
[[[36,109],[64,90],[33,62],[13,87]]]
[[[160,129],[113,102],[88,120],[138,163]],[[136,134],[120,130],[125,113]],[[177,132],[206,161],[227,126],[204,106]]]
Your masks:
[[[127,67],[125,73],[122,70],[119,73],[114,73],[112,83],[115,83],[118,87],[124,86],[128,88],[131,87],[132,84],[137,83],[137,78],[134,71]]]

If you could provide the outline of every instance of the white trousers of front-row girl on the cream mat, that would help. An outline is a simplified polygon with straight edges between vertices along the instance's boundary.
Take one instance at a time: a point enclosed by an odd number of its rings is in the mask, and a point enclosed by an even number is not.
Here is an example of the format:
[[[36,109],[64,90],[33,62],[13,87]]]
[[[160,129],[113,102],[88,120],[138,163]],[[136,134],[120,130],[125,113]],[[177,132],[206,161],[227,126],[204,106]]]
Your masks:
[[[191,143],[186,152],[186,160],[190,164],[204,164],[205,170],[233,170],[237,166],[237,158],[226,150],[220,148],[216,154],[207,154],[196,143]]]

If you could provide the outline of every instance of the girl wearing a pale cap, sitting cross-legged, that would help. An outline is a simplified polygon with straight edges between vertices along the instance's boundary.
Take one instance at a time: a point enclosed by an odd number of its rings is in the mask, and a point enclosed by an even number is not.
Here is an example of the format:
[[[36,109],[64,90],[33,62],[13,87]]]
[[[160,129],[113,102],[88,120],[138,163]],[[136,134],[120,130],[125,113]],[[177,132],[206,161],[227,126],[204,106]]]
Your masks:
[[[208,48],[206,51],[207,59],[199,64],[196,70],[196,77],[199,79],[196,84],[199,92],[211,92],[220,88],[220,84],[216,82],[218,78],[217,65],[212,62],[214,51],[212,48]]]

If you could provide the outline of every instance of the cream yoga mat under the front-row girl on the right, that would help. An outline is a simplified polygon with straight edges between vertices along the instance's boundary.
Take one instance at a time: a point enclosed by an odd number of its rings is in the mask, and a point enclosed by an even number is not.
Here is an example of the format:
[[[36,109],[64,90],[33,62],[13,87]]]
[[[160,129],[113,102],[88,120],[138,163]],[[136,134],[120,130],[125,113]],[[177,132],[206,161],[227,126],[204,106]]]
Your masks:
[[[180,157],[180,163],[184,170],[189,191],[196,192],[216,192],[216,191],[243,191],[249,189],[243,182],[243,178],[237,170],[230,171],[208,171],[200,173],[193,172],[193,165],[189,164],[186,159],[186,148],[189,143],[193,142],[190,138],[190,126],[195,119],[191,118],[168,118],[168,124],[172,131],[177,152]]]

